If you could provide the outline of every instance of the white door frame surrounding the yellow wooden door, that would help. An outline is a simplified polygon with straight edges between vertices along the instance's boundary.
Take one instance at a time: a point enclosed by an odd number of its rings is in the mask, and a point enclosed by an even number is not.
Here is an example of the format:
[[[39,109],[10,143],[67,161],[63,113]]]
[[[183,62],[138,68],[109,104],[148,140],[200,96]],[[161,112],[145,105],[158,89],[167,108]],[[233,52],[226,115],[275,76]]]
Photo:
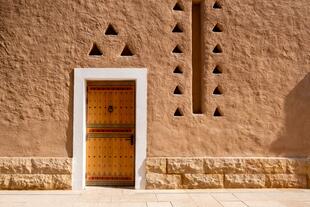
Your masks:
[[[147,69],[146,68],[75,68],[73,100],[72,190],[85,188],[86,172],[86,81],[136,81],[136,154],[135,188],[145,187],[147,141]]]

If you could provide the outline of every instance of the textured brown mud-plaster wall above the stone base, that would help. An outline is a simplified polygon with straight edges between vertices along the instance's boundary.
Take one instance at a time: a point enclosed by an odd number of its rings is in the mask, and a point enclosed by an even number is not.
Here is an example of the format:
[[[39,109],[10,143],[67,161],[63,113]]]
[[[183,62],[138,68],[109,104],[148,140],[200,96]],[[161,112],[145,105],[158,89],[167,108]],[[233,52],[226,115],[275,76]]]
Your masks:
[[[0,156],[72,156],[77,67],[148,68],[148,156],[309,156],[310,1],[203,1],[202,115],[192,114],[191,1],[175,2],[0,0]],[[104,35],[109,23],[117,36]],[[88,56],[94,42],[103,56]],[[134,56],[120,56],[125,44]]]

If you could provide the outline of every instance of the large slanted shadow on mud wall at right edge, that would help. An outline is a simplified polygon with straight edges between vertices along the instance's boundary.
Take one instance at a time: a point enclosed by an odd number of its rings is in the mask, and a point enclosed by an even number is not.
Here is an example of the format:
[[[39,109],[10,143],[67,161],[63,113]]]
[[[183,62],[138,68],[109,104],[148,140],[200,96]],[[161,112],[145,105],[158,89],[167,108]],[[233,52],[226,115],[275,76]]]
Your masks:
[[[284,156],[310,155],[310,73],[285,99],[284,130],[271,144],[271,151]]]

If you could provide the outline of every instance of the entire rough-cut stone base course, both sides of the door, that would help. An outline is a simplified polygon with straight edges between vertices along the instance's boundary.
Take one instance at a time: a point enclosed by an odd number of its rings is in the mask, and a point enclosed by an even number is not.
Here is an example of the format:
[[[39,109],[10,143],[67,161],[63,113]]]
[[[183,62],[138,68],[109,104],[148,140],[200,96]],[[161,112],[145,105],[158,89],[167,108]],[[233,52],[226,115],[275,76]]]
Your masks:
[[[0,189],[71,189],[71,158],[0,158]],[[310,158],[156,157],[146,188],[310,188]]]

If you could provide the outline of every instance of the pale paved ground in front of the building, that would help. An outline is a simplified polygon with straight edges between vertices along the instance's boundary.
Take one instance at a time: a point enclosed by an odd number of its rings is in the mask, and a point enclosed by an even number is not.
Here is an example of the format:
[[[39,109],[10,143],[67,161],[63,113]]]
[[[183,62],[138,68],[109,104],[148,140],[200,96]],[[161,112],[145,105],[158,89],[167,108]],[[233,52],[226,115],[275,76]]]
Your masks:
[[[0,191],[0,206],[59,207],[308,207],[305,189]]]

